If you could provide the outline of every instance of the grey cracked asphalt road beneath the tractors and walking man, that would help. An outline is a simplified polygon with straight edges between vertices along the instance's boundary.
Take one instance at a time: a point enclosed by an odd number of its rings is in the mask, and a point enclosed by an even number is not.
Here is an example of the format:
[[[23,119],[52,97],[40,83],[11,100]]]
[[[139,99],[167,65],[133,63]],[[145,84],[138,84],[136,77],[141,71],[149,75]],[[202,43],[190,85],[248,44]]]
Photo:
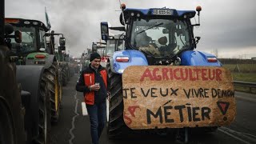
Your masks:
[[[78,74],[63,87],[62,109],[58,124],[51,127],[50,144],[91,144],[88,115],[82,115],[82,93],[75,91]],[[256,95],[237,93],[237,117],[226,127],[210,134],[194,134],[190,143],[256,143]],[[122,140],[107,138],[106,129],[100,138],[101,144],[176,143],[173,134],[134,135]]]

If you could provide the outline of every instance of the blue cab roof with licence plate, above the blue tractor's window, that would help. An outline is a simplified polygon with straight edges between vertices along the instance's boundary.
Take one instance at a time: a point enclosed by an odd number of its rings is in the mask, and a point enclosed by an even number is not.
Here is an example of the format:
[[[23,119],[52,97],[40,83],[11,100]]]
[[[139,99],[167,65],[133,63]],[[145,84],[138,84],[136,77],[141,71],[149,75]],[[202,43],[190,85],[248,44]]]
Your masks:
[[[155,14],[154,11],[158,11],[158,14]],[[168,12],[168,14],[159,14],[159,12]],[[174,10],[174,9],[168,9],[168,8],[150,8],[150,9],[134,9],[134,8],[126,8],[124,10],[124,14],[142,14],[144,16],[154,16],[154,15],[165,15],[170,17],[184,17],[186,15],[187,18],[194,18],[195,11],[194,10]]]

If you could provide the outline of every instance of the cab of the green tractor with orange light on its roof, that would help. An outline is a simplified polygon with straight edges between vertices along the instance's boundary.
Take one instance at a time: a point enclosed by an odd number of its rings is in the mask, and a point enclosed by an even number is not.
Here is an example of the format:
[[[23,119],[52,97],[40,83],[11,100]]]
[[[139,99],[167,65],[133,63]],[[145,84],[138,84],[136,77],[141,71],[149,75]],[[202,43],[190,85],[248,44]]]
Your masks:
[[[18,65],[25,65],[26,60],[33,61],[30,64],[42,64],[48,54],[54,54],[51,45],[47,45],[46,37],[49,29],[43,22],[22,18],[6,18],[6,24],[13,26],[14,31],[20,31],[22,39],[20,43],[15,42],[14,38],[10,38],[11,55]],[[14,34],[15,35],[15,34]],[[50,44],[49,43],[49,44]],[[60,38],[60,49],[65,50],[65,38]],[[28,64],[28,63],[27,63]]]

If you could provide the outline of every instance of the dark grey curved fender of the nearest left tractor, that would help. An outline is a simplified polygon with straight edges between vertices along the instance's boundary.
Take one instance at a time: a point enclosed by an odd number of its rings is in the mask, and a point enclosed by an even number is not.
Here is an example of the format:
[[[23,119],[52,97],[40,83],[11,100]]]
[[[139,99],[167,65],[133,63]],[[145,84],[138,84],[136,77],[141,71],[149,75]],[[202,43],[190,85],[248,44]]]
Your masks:
[[[22,65],[17,66],[16,78],[17,82],[21,83],[22,90],[25,90],[31,94],[30,97],[30,108],[26,110],[29,114],[31,114],[31,122],[32,127],[32,137],[38,135],[38,122],[39,122],[39,114],[38,114],[38,100],[39,100],[39,86],[42,80],[42,72],[45,69],[45,66],[35,66],[35,65]]]

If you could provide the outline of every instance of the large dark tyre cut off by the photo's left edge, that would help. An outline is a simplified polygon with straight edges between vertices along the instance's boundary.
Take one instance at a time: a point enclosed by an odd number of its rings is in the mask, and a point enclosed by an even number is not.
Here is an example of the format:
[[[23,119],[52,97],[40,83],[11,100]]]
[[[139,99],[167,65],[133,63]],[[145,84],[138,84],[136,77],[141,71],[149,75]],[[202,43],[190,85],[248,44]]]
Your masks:
[[[16,66],[6,57],[8,49],[0,46],[0,143],[25,144],[25,109],[16,82]]]

